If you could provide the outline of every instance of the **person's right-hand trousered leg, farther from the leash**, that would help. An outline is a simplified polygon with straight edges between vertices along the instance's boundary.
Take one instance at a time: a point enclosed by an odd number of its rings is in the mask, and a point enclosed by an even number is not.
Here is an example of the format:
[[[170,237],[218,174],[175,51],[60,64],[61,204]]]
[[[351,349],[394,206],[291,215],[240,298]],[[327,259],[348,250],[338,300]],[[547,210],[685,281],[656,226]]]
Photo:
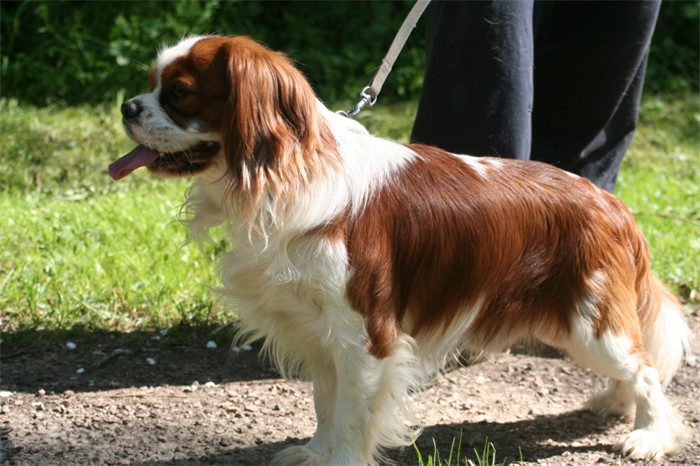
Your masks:
[[[545,2],[535,25],[532,159],[612,191],[637,125],[660,1]]]

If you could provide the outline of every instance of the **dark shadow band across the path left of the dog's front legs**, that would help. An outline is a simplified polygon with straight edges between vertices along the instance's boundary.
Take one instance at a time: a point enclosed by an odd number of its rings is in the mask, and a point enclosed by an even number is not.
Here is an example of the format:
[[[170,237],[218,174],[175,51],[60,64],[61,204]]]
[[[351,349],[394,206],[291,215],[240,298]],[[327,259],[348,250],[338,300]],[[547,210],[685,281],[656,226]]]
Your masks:
[[[28,333],[3,335],[3,390],[61,393],[279,378],[259,356],[259,345],[231,345],[232,327]],[[25,341],[32,343],[21,343]]]

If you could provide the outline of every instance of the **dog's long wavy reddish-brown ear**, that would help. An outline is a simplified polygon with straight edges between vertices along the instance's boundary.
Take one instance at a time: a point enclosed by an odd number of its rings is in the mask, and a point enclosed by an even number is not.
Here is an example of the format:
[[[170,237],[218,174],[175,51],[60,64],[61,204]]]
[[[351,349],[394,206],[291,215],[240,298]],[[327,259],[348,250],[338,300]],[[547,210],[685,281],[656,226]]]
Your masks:
[[[255,204],[268,188],[284,194],[285,181],[308,181],[304,158],[315,152],[320,117],[311,86],[286,56],[247,37],[230,39],[226,53],[224,154],[231,188]]]

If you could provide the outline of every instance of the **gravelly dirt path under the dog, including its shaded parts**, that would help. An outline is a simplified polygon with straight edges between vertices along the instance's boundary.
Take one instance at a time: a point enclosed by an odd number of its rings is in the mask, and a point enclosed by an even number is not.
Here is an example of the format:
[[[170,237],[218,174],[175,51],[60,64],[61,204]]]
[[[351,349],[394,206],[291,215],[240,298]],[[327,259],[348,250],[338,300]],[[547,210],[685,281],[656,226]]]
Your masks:
[[[699,354],[700,318],[691,324]],[[0,463],[266,464],[313,434],[309,383],[281,380],[256,348],[212,348],[211,335],[196,335],[183,343],[164,332],[88,334],[3,350]],[[691,360],[668,390],[691,441],[659,464],[700,464],[699,365]],[[496,355],[415,395],[427,426],[418,446],[425,458],[435,442],[446,458],[461,435],[462,453],[472,459],[488,439],[506,464],[629,464],[611,445],[630,422],[581,409],[603,386],[565,358]],[[388,456],[418,464],[413,448]]]

